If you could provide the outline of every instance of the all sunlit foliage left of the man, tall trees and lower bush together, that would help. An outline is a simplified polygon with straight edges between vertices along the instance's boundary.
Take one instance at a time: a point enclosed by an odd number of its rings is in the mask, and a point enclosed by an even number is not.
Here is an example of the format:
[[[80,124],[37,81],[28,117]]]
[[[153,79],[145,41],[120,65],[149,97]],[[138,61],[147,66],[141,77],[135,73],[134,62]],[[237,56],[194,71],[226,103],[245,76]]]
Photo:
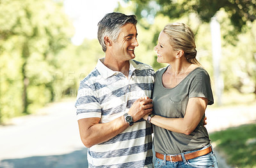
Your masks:
[[[0,10],[0,123],[75,97],[104,57],[97,39],[72,45],[74,27],[56,1],[4,0]]]

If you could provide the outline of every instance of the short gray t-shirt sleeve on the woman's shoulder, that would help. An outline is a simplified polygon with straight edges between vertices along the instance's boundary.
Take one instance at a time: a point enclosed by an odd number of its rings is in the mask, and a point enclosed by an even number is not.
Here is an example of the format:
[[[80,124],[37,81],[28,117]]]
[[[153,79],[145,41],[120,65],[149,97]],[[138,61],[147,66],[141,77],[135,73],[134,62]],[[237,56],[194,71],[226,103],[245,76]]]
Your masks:
[[[189,87],[189,98],[191,97],[204,97],[208,99],[208,105],[214,103],[211,80],[207,71],[202,70],[196,72],[193,76],[191,85]]]

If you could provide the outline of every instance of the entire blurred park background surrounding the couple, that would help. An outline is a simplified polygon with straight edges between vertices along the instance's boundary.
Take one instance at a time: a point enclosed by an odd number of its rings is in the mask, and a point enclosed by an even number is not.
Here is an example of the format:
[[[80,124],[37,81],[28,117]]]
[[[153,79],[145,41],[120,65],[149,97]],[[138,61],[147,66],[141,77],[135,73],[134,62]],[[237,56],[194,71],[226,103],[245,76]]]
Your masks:
[[[255,0],[1,0],[0,167],[87,166],[74,103],[104,57],[97,23],[112,11],[138,17],[136,60],[155,70],[166,66],[153,50],[164,25],[193,29],[214,91],[212,143],[228,166],[256,167]]]

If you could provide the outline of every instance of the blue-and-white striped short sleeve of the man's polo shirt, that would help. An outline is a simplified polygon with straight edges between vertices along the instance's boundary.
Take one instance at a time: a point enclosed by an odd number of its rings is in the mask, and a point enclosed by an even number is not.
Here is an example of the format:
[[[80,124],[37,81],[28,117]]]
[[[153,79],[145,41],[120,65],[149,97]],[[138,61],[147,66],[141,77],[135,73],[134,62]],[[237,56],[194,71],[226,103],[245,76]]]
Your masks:
[[[88,85],[81,81],[76,99],[77,120],[83,118],[97,117],[101,118],[102,108],[97,100],[95,92]]]

